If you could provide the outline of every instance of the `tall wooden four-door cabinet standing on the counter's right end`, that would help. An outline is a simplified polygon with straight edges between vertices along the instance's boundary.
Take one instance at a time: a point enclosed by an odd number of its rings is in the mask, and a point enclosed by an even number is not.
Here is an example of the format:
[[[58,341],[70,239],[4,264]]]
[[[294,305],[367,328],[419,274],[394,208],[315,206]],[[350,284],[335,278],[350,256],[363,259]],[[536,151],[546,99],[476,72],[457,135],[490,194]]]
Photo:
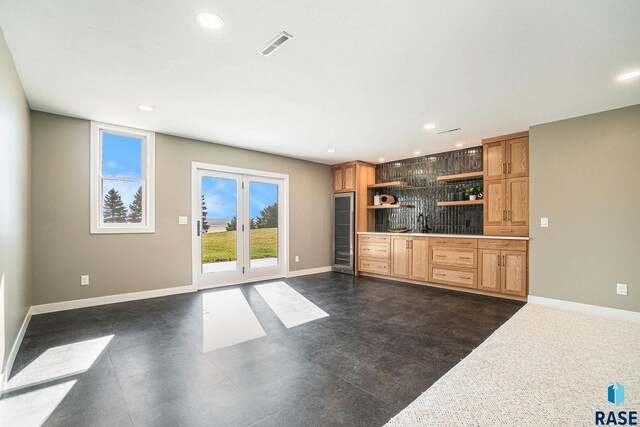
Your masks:
[[[482,140],[484,234],[529,235],[529,132]]]

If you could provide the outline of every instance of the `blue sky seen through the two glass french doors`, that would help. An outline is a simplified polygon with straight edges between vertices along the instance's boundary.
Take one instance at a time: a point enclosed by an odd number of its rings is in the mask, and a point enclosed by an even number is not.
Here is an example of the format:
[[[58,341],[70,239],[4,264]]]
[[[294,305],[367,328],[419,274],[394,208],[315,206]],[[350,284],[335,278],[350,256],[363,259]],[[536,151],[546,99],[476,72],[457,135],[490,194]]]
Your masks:
[[[202,194],[207,204],[207,218],[231,219],[237,215],[236,181],[223,178],[202,178]],[[278,186],[263,182],[249,183],[249,214],[260,215],[265,207],[278,201]]]

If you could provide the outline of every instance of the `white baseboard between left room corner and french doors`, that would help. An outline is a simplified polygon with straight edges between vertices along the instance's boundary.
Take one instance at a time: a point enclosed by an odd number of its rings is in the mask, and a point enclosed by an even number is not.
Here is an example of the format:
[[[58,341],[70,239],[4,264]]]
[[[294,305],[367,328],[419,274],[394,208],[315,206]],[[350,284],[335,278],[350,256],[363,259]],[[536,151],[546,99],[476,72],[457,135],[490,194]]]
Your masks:
[[[128,294],[108,295],[104,297],[77,299],[72,301],[54,302],[50,304],[40,304],[31,307],[31,314],[45,314],[56,311],[73,310],[76,308],[95,307],[97,305],[115,304],[118,302],[135,301],[139,299],[164,297],[167,295],[185,294],[196,292],[197,289],[191,285],[179,286],[175,288],[154,289],[151,291],[131,292]]]

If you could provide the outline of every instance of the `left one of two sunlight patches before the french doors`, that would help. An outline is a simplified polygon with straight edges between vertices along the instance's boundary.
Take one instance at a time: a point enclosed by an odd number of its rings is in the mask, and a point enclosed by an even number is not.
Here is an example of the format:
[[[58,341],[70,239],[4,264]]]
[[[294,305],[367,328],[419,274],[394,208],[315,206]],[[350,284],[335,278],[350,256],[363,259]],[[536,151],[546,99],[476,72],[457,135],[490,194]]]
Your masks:
[[[202,313],[205,353],[266,335],[240,289],[204,294]]]

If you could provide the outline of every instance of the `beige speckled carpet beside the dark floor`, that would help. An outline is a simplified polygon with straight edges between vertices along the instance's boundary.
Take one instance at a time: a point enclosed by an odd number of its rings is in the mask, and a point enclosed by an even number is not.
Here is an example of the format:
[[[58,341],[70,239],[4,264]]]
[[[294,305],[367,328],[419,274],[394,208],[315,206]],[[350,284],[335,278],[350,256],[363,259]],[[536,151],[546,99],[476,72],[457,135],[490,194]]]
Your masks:
[[[639,404],[640,324],[527,304],[387,426],[593,426]]]

